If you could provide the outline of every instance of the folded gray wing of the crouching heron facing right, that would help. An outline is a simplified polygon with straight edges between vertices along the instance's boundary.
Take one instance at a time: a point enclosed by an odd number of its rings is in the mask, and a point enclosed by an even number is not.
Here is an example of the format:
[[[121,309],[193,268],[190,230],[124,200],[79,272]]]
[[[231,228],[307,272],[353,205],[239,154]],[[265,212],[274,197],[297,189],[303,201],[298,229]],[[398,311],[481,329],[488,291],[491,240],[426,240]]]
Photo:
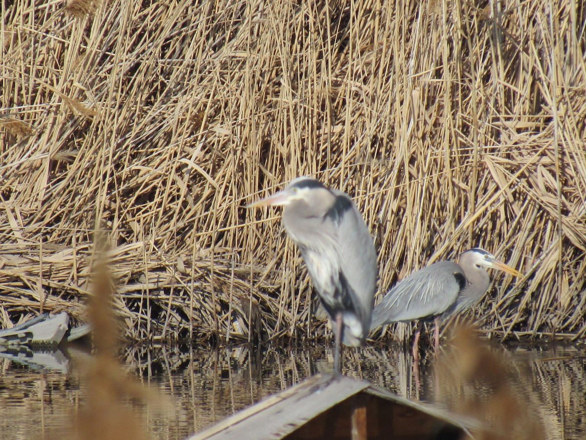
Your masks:
[[[420,269],[394,286],[374,307],[370,328],[444,313],[465,286],[464,270],[452,261]]]

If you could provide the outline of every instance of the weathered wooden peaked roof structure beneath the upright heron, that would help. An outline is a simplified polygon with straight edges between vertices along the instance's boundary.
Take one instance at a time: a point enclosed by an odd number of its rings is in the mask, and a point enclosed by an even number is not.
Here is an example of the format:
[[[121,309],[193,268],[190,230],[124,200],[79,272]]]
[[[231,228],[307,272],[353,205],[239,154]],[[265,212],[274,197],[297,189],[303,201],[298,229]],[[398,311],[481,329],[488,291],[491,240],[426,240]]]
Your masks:
[[[461,439],[471,425],[366,381],[315,375],[189,440]]]

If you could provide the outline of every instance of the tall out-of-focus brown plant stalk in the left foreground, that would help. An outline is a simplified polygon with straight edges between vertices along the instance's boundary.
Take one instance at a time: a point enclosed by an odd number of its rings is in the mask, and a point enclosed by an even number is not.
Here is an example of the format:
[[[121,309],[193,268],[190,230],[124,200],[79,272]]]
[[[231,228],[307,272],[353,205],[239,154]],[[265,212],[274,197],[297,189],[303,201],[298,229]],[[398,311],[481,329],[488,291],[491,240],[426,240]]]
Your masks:
[[[113,312],[113,280],[107,267],[98,264],[87,316],[93,326],[95,354],[80,362],[86,373],[87,402],[77,417],[81,439],[144,439],[144,426],[128,406],[128,400],[161,404],[158,393],[128,376],[118,363],[120,323]]]

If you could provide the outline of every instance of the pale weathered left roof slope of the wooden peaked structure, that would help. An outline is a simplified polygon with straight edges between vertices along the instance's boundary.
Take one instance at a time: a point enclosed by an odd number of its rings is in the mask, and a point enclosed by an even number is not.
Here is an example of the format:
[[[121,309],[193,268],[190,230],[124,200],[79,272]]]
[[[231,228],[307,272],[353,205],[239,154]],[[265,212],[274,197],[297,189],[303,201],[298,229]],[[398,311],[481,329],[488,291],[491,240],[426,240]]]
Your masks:
[[[189,440],[277,439],[294,432],[323,411],[369,387],[345,376],[318,374],[199,432]]]

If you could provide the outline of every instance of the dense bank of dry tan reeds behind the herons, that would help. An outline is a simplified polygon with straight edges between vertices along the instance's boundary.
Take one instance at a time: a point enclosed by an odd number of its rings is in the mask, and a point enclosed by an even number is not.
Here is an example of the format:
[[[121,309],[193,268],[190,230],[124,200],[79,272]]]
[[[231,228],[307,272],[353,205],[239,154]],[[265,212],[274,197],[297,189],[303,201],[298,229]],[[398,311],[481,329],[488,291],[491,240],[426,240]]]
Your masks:
[[[483,329],[584,336],[581,2],[0,8],[1,326],[83,320],[100,231],[128,339],[322,337],[280,212],[245,208],[314,175],[363,212],[379,296],[482,246],[527,274],[492,274]]]

